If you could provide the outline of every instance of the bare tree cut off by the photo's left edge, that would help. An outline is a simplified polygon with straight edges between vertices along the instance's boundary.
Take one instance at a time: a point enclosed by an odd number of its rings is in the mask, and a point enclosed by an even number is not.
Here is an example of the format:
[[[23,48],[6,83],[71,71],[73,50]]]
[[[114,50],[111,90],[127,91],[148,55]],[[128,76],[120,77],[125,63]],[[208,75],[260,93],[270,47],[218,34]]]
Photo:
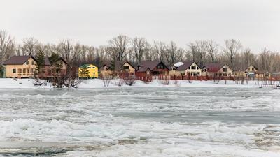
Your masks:
[[[0,31],[0,65],[13,56],[14,51],[15,40],[6,31]]]

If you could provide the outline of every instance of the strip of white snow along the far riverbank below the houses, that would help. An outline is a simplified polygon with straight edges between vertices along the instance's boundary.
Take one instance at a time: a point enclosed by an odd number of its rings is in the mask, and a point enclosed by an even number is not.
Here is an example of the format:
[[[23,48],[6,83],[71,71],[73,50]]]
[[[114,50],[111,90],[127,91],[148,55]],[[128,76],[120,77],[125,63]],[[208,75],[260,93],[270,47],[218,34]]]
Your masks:
[[[0,79],[0,88],[6,89],[51,89],[52,85],[50,83],[43,84],[41,86],[34,86],[34,79],[10,79],[2,78]],[[218,84],[214,81],[193,81],[189,83],[188,80],[178,80],[178,84],[174,84],[174,81],[169,81],[168,85],[162,84],[160,80],[153,80],[152,82],[145,83],[137,80],[132,86],[123,84],[123,86],[118,86],[118,80],[111,80],[109,88],[125,88],[125,87],[235,87],[235,88],[252,88],[259,87],[258,82],[249,81],[248,84],[235,84],[234,81],[221,80]],[[259,82],[261,84],[261,82]],[[103,81],[100,79],[93,80],[83,80],[79,86],[80,89],[91,89],[91,88],[104,88]]]

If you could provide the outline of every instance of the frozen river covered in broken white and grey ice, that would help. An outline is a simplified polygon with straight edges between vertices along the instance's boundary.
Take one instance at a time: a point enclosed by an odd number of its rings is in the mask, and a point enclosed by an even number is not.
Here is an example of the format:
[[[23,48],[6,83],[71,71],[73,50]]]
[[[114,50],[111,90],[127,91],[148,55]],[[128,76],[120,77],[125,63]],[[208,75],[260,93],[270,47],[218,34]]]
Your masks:
[[[280,156],[279,94],[0,89],[0,156]]]

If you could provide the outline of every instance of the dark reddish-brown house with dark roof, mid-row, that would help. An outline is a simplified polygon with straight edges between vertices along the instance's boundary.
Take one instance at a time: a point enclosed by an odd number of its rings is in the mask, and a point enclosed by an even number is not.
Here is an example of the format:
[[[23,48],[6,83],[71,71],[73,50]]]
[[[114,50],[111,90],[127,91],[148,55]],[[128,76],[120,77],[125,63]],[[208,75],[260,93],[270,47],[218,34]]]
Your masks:
[[[135,75],[141,80],[143,77],[156,78],[158,76],[168,75],[168,73],[169,68],[162,61],[142,61]]]

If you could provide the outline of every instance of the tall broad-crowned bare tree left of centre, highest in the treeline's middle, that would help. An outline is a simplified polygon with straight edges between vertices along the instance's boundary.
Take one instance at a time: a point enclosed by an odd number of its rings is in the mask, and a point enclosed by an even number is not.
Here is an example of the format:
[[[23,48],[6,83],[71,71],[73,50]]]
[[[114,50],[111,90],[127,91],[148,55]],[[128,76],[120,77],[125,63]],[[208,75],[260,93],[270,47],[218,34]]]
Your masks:
[[[119,35],[109,40],[108,51],[114,61],[123,61],[128,54],[129,38],[124,35]]]

